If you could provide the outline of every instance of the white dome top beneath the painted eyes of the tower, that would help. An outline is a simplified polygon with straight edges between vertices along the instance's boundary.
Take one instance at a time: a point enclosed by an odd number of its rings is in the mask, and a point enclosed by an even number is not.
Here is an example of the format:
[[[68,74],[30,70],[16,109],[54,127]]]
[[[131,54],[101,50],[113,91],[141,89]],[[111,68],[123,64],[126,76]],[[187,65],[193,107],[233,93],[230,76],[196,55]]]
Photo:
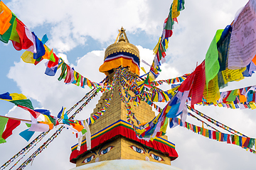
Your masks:
[[[75,167],[71,170],[130,170],[130,169],[152,169],[152,170],[181,170],[176,168],[175,166],[167,165],[167,164],[160,164],[157,162],[148,162],[142,160],[133,160],[133,159],[117,159],[112,161],[104,161],[104,162],[95,162],[92,164],[85,164],[82,166]]]

